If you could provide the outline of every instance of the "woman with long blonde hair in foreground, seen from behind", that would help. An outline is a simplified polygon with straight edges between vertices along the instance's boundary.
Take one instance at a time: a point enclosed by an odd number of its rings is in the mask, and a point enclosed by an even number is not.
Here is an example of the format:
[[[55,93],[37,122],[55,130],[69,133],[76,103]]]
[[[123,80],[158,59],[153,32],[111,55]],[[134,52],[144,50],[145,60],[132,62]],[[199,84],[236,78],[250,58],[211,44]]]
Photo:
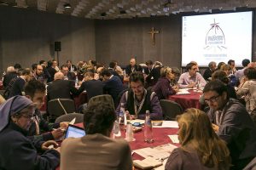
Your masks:
[[[214,133],[207,114],[188,109],[177,116],[181,147],[172,151],[166,170],[230,169],[230,151]]]

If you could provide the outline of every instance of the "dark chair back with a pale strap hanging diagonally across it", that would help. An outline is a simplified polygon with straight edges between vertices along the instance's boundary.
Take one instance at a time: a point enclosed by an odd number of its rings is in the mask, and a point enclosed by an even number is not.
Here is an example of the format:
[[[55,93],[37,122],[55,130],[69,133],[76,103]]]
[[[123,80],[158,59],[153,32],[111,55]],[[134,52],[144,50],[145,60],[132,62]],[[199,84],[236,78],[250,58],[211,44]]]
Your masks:
[[[47,104],[49,116],[58,117],[67,113],[76,112],[73,99],[51,99]]]

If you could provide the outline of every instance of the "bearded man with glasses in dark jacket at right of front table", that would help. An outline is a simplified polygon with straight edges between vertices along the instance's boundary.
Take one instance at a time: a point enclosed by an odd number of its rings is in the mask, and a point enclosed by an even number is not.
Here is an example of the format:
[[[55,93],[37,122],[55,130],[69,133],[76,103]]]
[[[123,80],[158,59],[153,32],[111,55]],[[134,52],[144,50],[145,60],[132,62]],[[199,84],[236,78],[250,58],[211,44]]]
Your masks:
[[[208,82],[203,93],[210,107],[207,115],[212,127],[230,150],[233,164],[231,169],[246,167],[256,156],[256,126],[252,118],[244,105],[230,98],[223,82]]]

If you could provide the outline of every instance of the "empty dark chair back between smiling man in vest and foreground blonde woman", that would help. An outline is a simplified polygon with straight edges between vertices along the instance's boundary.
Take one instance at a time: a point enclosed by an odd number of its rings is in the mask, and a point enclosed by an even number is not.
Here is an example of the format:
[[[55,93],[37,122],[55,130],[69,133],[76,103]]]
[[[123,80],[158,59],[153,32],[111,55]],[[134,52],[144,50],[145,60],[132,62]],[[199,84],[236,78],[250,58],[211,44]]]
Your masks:
[[[176,116],[183,113],[183,109],[179,104],[168,99],[161,99],[160,106],[166,121],[175,121]]]

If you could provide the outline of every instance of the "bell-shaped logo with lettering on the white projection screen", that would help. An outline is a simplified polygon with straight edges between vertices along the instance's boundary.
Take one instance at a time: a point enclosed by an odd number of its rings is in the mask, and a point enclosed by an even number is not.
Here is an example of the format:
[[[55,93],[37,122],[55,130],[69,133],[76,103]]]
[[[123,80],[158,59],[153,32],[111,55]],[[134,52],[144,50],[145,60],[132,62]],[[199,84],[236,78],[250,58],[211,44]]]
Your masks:
[[[224,31],[219,26],[219,23],[216,23],[214,19],[214,23],[210,26],[211,28],[207,31],[205,49],[217,48],[220,51],[226,49]]]

